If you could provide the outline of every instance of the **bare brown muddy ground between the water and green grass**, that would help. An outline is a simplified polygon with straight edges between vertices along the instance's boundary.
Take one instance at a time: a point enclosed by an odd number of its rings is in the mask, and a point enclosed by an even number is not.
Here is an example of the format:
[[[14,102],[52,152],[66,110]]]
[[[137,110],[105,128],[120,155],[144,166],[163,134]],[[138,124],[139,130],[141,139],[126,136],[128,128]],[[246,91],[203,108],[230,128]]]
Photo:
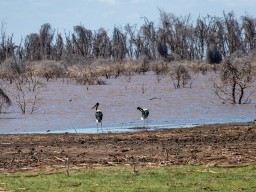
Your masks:
[[[254,122],[135,133],[0,135],[2,173],[124,164],[240,166],[255,161]]]

